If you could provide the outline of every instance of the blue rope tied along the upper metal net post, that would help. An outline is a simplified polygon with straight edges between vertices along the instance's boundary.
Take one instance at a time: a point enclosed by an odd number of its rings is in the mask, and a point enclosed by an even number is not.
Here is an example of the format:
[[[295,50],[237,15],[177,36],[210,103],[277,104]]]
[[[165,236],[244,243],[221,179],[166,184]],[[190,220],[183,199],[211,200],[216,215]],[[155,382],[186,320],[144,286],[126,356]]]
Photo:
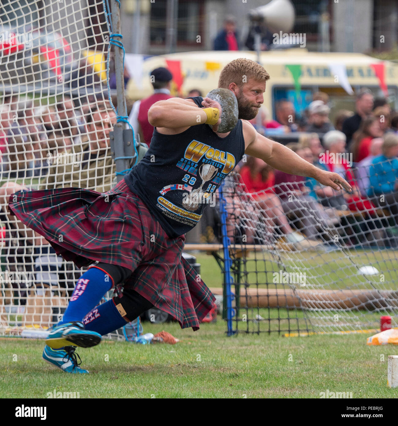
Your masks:
[[[119,9],[120,9],[120,6],[121,6],[120,5],[120,0],[116,0],[116,1],[117,1],[118,5],[119,5]],[[133,132],[134,155],[132,157],[117,157],[117,158],[115,158],[115,161],[118,160],[118,159],[129,159],[129,160],[131,160],[131,159],[135,158],[135,162],[132,165],[132,167],[130,167],[129,169],[126,169],[126,170],[123,170],[121,172],[116,172],[115,173],[116,176],[119,176],[119,175],[125,175],[125,174],[129,173],[129,171],[135,166],[135,164],[137,164],[138,151],[137,151],[137,147],[135,146],[135,133],[134,133],[134,129],[133,129],[132,125],[129,122],[129,117],[126,116],[126,115],[125,116],[119,115],[119,113],[117,111],[117,109],[119,109],[119,106],[116,109],[115,106],[114,106],[114,104],[113,104],[113,102],[112,102],[111,88],[109,86],[109,56],[110,56],[109,52],[111,50],[111,46],[112,45],[115,46],[115,47],[118,47],[119,49],[123,50],[123,69],[124,69],[124,59],[125,59],[125,56],[126,56],[126,50],[124,49],[123,42],[120,41],[120,40],[116,40],[115,39],[115,37],[119,37],[120,39],[123,39],[123,35],[117,34],[117,33],[113,33],[112,19],[111,19],[112,13],[111,13],[111,8],[109,7],[109,0],[103,0],[103,5],[104,5],[104,10],[107,12],[106,13],[106,26],[107,26],[108,31],[109,31],[108,55],[107,55],[107,58],[106,58],[106,84],[107,84],[107,87],[108,87],[109,102],[111,104],[111,107],[112,107],[113,111],[116,114],[117,123],[128,124],[129,127],[130,127],[130,129]]]

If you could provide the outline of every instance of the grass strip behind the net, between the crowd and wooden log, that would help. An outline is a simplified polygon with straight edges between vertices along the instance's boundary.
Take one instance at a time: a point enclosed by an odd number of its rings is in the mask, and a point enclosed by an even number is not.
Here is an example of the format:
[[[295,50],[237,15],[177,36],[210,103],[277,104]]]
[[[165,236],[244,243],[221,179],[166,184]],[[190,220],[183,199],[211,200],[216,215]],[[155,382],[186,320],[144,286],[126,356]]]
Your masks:
[[[192,253],[201,264],[201,276],[208,287],[221,287],[221,270],[212,256],[203,253]],[[394,250],[340,250],[332,253],[281,253],[281,261],[286,271],[306,273],[307,288],[326,289],[371,289],[369,281],[375,288],[398,290],[398,252]],[[355,267],[372,265],[384,275],[363,276]],[[248,284],[271,283],[273,273],[279,273],[280,266],[270,253],[251,253],[246,262],[246,282]],[[282,288],[282,285],[277,285]],[[285,285],[286,287],[286,285]],[[275,285],[273,286],[275,288]]]

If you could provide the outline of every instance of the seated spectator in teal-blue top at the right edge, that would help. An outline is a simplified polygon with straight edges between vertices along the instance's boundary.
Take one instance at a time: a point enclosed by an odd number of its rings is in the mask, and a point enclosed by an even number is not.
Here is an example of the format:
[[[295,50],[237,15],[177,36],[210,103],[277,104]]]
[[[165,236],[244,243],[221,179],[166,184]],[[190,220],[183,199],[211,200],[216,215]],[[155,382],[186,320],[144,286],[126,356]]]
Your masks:
[[[381,208],[388,208],[398,224],[398,135],[384,135],[382,154],[369,168],[368,196]]]

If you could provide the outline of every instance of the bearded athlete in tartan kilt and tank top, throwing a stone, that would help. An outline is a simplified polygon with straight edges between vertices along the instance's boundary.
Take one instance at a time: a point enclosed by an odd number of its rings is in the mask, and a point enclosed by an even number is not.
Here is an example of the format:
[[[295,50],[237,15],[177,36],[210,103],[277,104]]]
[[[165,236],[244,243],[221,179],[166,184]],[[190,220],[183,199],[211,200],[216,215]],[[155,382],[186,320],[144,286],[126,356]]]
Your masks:
[[[184,234],[207,204],[197,199],[214,193],[244,153],[283,172],[350,189],[337,173],[318,169],[249,124],[268,79],[252,60],[236,59],[223,68],[218,86],[236,95],[240,118],[229,133],[217,132],[222,111],[212,99],[172,98],[152,105],[149,151],[106,193],[64,188],[15,194],[10,210],[57,254],[78,267],[99,262],[77,281],[63,321],[46,340],[45,360],[63,371],[88,372],[78,366],[75,347],[97,345],[101,335],[152,306],[172,315],[181,328],[199,328],[214,296],[181,256]],[[187,196],[200,192],[203,197]],[[113,287],[117,296],[97,306]]]

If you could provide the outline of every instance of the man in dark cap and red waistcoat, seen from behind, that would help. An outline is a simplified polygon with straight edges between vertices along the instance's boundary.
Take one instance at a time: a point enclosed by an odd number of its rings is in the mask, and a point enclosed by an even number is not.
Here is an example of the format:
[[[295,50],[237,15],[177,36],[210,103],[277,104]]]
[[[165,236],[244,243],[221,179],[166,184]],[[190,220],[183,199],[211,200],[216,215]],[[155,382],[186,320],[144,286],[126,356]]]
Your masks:
[[[170,85],[173,79],[172,73],[163,66],[154,69],[151,72],[151,83],[154,92],[149,98],[136,101],[129,115],[129,121],[134,132],[143,137],[143,142],[148,146],[151,143],[153,126],[148,121],[148,111],[157,101],[172,98],[170,95]]]

